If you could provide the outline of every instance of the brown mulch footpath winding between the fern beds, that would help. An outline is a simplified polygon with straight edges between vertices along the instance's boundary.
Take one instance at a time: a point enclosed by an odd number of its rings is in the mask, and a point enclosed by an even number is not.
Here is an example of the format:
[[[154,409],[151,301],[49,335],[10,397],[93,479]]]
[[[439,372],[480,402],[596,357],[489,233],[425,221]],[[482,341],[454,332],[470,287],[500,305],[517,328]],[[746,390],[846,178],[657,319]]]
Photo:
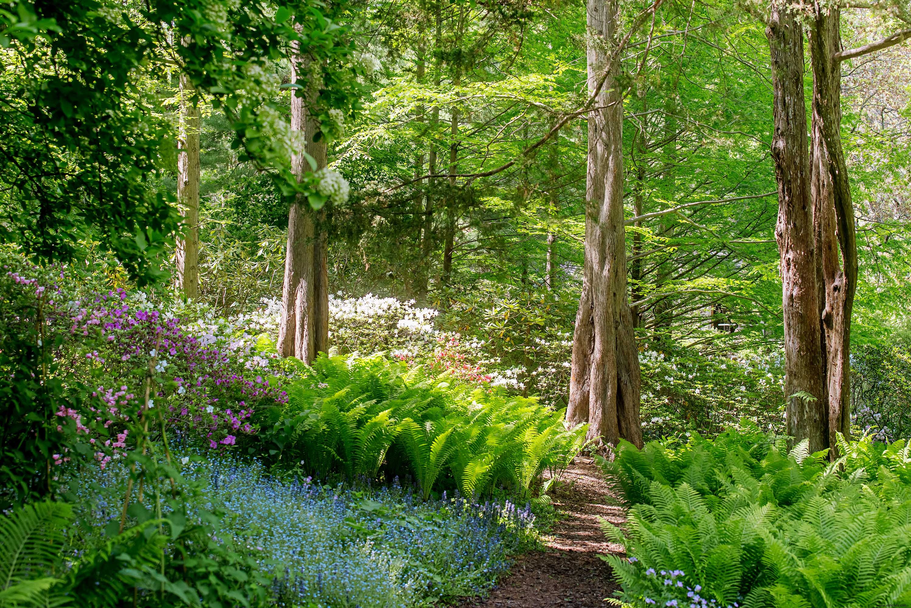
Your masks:
[[[625,522],[623,509],[611,506],[603,473],[588,458],[577,457],[560,480],[554,506],[561,519],[545,540],[545,550],[520,556],[512,571],[484,599],[462,608],[604,608],[618,588],[610,566],[599,555],[622,552],[601,532],[599,519]]]

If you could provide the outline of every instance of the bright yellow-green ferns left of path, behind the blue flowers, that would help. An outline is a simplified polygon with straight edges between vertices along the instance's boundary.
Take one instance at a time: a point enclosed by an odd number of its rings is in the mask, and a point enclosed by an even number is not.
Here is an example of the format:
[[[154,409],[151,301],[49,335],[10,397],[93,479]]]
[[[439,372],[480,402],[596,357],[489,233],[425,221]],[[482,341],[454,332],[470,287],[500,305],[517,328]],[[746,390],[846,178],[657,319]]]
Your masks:
[[[267,457],[320,479],[409,476],[425,499],[497,486],[525,496],[585,441],[584,428],[566,430],[563,412],[536,399],[472,390],[380,355],[322,355],[287,390],[263,424]]]

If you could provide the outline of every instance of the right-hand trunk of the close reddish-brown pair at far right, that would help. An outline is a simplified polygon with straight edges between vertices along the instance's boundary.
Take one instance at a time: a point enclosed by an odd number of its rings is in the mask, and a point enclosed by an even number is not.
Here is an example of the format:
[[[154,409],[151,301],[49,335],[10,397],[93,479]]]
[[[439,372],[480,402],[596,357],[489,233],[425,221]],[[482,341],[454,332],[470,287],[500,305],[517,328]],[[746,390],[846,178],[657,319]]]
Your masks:
[[[857,285],[857,246],[851,185],[842,148],[840,11],[815,6],[810,31],[813,66],[814,238],[819,259],[819,318],[822,322],[828,397],[827,445],[831,456],[835,433],[851,430],[850,336]],[[841,259],[839,259],[841,254]]]

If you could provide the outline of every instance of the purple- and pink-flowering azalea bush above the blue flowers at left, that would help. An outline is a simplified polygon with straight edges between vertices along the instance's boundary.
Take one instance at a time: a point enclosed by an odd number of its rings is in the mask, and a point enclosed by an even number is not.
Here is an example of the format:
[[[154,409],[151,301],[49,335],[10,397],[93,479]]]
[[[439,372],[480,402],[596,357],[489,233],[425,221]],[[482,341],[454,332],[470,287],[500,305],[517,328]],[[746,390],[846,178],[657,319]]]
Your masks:
[[[142,292],[97,293],[67,281],[62,269],[20,266],[5,265],[5,310],[15,301],[30,311],[17,319],[37,327],[30,338],[46,358],[41,381],[61,387],[45,431],[60,437],[52,464],[74,451],[90,452],[102,467],[121,458],[142,410],[160,422],[153,432],[167,427],[211,449],[234,445],[256,432],[256,410],[287,400],[277,355],[241,327],[247,319],[213,319]],[[26,373],[34,372],[9,370],[14,384]]]

